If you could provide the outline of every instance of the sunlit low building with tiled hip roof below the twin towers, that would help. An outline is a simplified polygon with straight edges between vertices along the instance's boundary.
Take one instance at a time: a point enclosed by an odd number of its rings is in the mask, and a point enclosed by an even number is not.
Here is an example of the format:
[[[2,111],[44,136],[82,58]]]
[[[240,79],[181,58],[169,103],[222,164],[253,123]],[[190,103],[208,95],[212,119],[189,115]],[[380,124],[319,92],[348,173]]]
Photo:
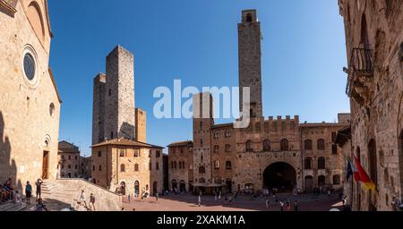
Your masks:
[[[117,139],[92,146],[92,179],[97,185],[124,195],[154,195],[163,190],[162,148]]]

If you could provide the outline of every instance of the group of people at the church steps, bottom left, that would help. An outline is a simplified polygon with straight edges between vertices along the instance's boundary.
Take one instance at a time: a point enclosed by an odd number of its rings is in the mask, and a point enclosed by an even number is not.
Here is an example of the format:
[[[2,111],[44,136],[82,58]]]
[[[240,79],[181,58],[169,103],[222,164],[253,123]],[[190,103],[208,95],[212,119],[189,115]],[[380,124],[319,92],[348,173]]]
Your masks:
[[[41,179],[38,179],[35,182],[36,185],[36,211],[47,211],[45,204],[43,203],[43,199],[41,198],[41,190],[42,190]],[[25,185],[25,202],[30,205],[30,199],[32,198],[32,186],[30,182],[27,182]],[[19,204],[22,206],[23,196],[20,191],[14,188],[13,179],[9,178],[4,184],[0,185],[0,200],[2,202],[13,201],[14,204]]]

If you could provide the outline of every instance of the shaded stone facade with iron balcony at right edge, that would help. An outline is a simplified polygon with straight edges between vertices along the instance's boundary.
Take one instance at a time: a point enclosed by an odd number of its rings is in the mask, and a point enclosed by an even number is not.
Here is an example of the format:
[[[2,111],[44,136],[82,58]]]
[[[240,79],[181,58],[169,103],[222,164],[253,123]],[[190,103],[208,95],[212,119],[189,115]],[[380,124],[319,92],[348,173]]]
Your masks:
[[[353,210],[392,210],[403,183],[403,2],[339,0],[347,43],[351,153],[377,186],[353,183]]]

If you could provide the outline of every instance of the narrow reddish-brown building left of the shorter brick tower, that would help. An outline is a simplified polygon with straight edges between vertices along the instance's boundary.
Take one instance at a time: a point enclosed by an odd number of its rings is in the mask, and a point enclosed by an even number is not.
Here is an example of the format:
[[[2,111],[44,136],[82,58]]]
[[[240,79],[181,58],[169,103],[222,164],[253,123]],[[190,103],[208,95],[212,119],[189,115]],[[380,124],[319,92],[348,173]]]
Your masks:
[[[186,140],[168,146],[168,189],[193,191],[193,142]]]

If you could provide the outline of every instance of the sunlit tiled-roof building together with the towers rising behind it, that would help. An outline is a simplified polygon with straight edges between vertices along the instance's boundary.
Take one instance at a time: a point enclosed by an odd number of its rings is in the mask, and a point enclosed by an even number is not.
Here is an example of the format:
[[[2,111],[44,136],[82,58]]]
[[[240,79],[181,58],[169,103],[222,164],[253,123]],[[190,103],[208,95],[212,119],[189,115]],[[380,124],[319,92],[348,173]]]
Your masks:
[[[133,54],[117,46],[107,74],[94,79],[92,181],[110,191],[155,194],[163,188],[162,148],[147,144],[146,112],[134,106]]]

